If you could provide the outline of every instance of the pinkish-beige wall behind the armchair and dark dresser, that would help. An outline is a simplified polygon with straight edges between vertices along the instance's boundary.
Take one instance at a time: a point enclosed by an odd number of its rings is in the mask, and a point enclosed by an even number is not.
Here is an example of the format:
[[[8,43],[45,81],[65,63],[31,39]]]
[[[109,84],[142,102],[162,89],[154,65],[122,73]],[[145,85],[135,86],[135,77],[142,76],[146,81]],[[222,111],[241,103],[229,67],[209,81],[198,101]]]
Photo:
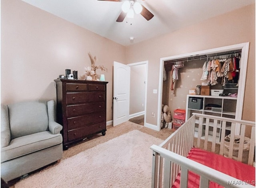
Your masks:
[[[124,46],[21,0],[1,1],[1,24],[1,103],[56,99],[54,79],[66,68],[82,75],[91,52],[96,64],[108,68],[107,120],[112,120],[112,66],[125,62]]]

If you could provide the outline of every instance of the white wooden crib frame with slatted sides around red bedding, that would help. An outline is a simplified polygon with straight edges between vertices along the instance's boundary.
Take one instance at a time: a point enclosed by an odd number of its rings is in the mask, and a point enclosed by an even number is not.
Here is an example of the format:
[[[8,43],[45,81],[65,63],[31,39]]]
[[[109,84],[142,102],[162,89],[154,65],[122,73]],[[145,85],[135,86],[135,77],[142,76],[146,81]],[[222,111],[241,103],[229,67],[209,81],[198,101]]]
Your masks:
[[[230,132],[228,153],[224,145],[227,131],[228,133]],[[250,134],[250,146],[245,150],[243,143],[248,132]],[[240,135],[240,144],[238,144],[238,154],[234,156],[233,148],[236,144],[234,144],[233,140],[237,135]],[[210,139],[210,136],[217,139]],[[186,158],[193,146],[222,156],[225,154],[226,157],[240,162],[244,162],[244,153],[247,152],[246,164],[252,166],[255,150],[255,122],[193,113],[193,116],[162,142],[160,146],[152,145],[150,147],[153,150],[152,188],[170,188],[179,173],[180,188],[186,188],[188,187],[189,171],[200,176],[200,188],[208,188],[210,181],[224,187],[254,187],[250,184],[255,182],[242,182]]]

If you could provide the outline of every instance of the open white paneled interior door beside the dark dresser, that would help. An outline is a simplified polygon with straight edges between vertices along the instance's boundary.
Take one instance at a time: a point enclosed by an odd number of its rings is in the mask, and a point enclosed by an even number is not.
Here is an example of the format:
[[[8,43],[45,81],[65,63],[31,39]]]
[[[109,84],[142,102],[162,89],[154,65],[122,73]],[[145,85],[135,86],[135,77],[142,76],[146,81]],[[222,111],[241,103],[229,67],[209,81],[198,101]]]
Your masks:
[[[113,126],[129,120],[130,66],[114,62]]]

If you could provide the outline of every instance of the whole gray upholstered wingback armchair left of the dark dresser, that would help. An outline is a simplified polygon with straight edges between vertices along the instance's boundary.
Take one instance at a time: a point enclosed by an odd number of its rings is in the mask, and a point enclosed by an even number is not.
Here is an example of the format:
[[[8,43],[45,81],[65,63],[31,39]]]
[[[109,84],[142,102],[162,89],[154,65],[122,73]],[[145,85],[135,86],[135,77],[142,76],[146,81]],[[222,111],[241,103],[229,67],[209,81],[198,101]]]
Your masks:
[[[62,158],[54,100],[1,104],[1,178],[6,182]]]

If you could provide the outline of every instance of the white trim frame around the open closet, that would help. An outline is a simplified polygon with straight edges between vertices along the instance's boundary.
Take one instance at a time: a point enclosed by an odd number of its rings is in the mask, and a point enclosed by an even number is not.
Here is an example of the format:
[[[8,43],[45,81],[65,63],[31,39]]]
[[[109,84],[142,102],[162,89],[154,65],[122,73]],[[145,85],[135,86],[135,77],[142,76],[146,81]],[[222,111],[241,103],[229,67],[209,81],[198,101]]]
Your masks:
[[[180,58],[188,58],[192,56],[204,55],[204,54],[213,54],[219,52],[225,52],[229,50],[241,50],[241,63],[240,63],[240,76],[239,76],[239,87],[238,87],[238,97],[236,102],[236,109],[243,109],[244,104],[244,89],[246,82],[246,72],[247,72],[247,62],[248,62],[248,53],[249,53],[249,42],[234,44],[230,46],[224,46],[220,48],[212,48],[209,50],[202,50],[198,52],[192,52],[188,54],[181,54],[176,56],[169,56],[165,58],[160,58],[160,71],[159,71],[159,84],[158,84],[158,121],[157,129],[161,130],[161,108],[162,108],[162,92],[163,92],[163,68],[164,62],[167,60],[175,60]],[[242,75],[242,76],[241,76]],[[242,110],[236,110],[236,119],[242,119]]]

